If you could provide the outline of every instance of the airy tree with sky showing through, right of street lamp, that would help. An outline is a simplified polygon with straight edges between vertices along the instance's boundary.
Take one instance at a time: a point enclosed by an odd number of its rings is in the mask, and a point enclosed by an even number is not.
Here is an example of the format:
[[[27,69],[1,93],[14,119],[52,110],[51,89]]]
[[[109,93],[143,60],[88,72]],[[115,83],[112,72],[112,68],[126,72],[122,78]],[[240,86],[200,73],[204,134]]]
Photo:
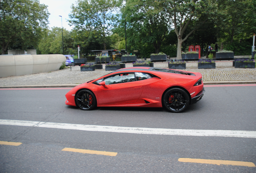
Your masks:
[[[76,6],[72,4],[72,12],[69,14],[70,25],[75,26],[77,31],[94,31],[99,34],[96,38],[107,48],[107,36],[116,26],[118,14],[116,0],[78,0]]]

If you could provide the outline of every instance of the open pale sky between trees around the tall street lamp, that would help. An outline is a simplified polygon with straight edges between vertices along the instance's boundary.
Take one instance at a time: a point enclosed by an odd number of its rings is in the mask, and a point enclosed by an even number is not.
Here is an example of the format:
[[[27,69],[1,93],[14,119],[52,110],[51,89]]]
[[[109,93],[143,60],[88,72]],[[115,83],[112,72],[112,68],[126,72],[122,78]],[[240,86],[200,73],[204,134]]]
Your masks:
[[[62,26],[67,30],[71,30],[72,26],[68,25],[68,14],[71,12],[71,5],[76,4],[76,0],[39,0],[40,4],[47,5],[50,16],[48,18],[50,28],[56,26],[61,28],[61,17]]]

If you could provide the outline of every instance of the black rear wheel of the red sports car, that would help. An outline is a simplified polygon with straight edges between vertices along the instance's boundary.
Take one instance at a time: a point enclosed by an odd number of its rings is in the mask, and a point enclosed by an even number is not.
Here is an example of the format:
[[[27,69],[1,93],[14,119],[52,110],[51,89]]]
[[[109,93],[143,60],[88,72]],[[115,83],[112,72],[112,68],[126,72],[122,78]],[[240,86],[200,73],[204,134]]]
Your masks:
[[[163,96],[163,106],[170,112],[180,113],[189,105],[189,96],[183,89],[169,89]]]

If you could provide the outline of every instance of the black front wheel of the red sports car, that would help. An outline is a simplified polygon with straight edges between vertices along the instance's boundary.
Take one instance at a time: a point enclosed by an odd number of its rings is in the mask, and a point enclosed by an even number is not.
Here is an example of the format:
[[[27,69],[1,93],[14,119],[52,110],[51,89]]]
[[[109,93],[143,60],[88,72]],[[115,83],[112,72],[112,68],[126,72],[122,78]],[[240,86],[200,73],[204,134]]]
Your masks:
[[[95,108],[96,105],[96,97],[91,91],[83,89],[76,94],[76,106],[81,109],[88,111]]]

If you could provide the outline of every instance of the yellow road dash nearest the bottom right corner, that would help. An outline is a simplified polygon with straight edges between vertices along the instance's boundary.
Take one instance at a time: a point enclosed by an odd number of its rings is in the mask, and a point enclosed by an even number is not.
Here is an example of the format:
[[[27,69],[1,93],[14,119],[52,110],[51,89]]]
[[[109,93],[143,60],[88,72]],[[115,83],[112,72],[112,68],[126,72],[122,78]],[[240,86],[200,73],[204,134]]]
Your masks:
[[[190,162],[190,163],[206,163],[214,165],[233,165],[233,166],[247,166],[255,167],[252,162],[242,162],[242,161],[225,161],[225,160],[207,160],[207,159],[190,159],[190,158],[180,158],[180,162]]]

